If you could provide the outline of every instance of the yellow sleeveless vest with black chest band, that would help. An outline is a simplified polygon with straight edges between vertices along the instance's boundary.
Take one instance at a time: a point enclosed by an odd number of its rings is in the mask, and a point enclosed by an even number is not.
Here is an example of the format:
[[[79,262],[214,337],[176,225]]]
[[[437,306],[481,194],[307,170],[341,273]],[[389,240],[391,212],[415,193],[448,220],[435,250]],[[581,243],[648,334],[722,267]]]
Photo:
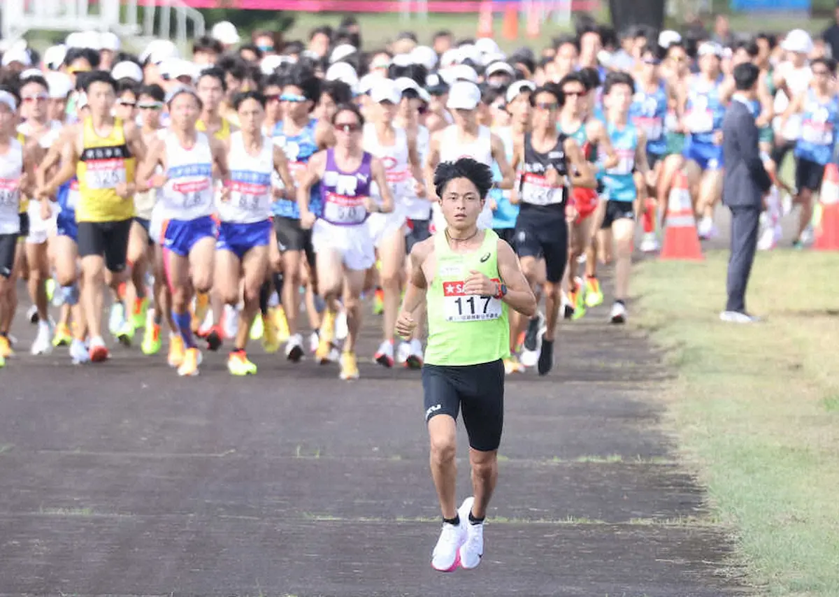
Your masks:
[[[76,221],[107,222],[128,220],[134,215],[133,200],[117,195],[117,184],[134,181],[135,158],[125,143],[122,120],[114,118],[107,137],[93,129],[93,119],[82,123],[82,151],[76,166],[79,205]]]

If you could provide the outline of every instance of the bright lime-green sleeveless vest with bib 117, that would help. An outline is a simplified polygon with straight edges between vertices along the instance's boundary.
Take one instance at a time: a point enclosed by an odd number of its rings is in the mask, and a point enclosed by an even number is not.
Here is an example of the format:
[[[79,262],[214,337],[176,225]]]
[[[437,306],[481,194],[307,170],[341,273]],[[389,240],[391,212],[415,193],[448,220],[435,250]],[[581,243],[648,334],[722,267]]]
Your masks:
[[[429,365],[463,366],[505,359],[510,350],[507,304],[500,298],[463,292],[470,270],[495,282],[498,275],[498,235],[484,231],[481,247],[456,253],[444,231],[434,237],[436,269],[428,289]]]

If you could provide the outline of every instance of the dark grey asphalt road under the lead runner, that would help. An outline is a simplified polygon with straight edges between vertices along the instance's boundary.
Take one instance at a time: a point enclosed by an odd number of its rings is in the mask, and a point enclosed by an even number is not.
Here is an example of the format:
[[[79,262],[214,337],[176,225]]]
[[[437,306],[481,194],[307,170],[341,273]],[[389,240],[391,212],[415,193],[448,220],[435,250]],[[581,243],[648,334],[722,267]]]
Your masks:
[[[364,362],[347,383],[261,349],[250,378],[224,353],[189,379],[136,348],[72,366],[65,349],[25,354],[18,317],[21,356],[0,371],[0,594],[741,594],[658,430],[668,371],[606,318],[563,324],[550,376],[508,377],[483,562],[439,574],[417,371]]]

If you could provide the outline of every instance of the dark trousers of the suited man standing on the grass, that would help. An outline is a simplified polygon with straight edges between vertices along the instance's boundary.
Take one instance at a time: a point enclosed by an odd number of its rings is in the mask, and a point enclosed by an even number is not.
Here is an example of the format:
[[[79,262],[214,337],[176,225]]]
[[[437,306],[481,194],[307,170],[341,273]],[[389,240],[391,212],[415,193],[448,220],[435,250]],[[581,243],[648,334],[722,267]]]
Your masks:
[[[758,249],[760,209],[729,207],[732,212],[731,256],[728,258],[727,311],[746,313],[746,286]]]

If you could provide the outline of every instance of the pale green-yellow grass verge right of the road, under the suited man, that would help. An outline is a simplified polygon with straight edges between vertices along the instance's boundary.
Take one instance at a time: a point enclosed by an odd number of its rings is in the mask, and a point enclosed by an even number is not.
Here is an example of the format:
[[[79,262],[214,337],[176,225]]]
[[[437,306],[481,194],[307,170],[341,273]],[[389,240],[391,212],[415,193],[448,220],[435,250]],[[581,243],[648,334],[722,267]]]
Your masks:
[[[723,324],[727,252],[644,262],[638,325],[678,371],[670,424],[771,595],[839,594],[839,254],[759,254],[762,324]]]

